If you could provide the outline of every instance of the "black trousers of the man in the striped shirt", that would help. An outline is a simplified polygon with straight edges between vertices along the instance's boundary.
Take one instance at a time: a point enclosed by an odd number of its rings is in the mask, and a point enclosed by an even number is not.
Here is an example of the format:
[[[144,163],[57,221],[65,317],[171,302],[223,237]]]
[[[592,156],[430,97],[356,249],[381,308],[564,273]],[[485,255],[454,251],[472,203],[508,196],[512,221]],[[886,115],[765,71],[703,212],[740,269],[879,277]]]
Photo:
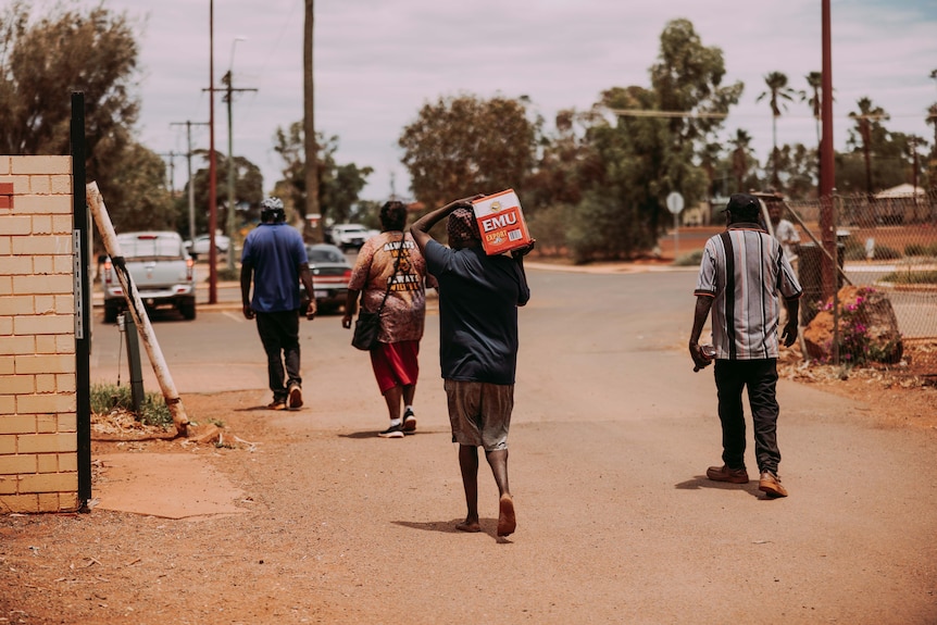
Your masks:
[[[716,360],[715,386],[719,391],[719,418],[722,422],[722,459],[729,468],[745,467],[745,410],[741,391],[748,389],[754,429],[754,457],[758,470],[777,473],[780,451],[777,449],[779,412],[777,360]]]

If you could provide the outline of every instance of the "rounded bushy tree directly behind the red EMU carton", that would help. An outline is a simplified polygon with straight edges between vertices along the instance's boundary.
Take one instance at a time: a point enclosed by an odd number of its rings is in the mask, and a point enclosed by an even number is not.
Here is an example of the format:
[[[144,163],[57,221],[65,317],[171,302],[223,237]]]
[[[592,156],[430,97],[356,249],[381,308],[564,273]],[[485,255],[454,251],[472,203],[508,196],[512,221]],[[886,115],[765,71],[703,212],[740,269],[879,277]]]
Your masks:
[[[470,95],[424,104],[398,140],[416,199],[438,207],[513,188],[523,201],[542,124],[529,117],[527,104],[524,97],[483,100]]]

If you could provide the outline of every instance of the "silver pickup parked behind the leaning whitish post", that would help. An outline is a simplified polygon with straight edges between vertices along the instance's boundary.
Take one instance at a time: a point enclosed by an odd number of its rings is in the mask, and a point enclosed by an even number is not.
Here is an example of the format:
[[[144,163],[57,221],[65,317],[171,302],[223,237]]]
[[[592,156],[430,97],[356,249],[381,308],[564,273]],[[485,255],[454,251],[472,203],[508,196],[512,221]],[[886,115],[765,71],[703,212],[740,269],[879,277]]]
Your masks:
[[[196,318],[195,262],[177,233],[124,233],[117,235],[117,245],[145,307],[173,307],[185,318]],[[117,271],[110,258],[104,260],[104,323],[114,323],[127,309]]]

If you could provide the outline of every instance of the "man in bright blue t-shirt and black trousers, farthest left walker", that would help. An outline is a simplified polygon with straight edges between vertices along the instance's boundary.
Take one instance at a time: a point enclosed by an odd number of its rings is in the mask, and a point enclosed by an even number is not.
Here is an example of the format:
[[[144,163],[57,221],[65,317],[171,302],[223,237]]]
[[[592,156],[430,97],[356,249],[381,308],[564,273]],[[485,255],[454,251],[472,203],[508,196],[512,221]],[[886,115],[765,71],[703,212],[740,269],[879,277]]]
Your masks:
[[[261,224],[245,239],[241,253],[240,291],[243,316],[257,317],[257,330],[266,352],[272,410],[302,407],[299,366],[299,282],[309,293],[305,316],[315,317],[312,274],[302,236],[286,223],[283,202],[267,198],[261,203]],[[253,297],[250,292],[253,277]],[[284,375],[284,364],[286,375]]]

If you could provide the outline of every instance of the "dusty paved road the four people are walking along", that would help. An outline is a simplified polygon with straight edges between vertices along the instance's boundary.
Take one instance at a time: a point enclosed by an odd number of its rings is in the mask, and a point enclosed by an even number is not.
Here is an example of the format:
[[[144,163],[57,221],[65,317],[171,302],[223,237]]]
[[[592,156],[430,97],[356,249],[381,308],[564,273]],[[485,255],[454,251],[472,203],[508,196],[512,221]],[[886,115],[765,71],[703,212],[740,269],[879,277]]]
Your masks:
[[[529,274],[511,432],[519,529],[507,542],[490,535],[496,495],[484,464],[490,534],[451,532],[464,509],[438,318],[427,317],[421,353],[420,435],[398,441],[374,436],[382,402],[339,317],[303,323],[309,413],[264,417],[263,449],[274,453],[229,468],[266,510],[227,522],[232,540],[264,533],[268,566],[293,590],[291,614],[937,622],[935,434],[883,428],[863,405],[782,380],[791,496],[715,485],[703,477],[720,454],[712,374],[694,374],[684,347],[692,272]],[[236,312],[154,325],[184,393],[258,389],[265,399],[260,341]],[[95,332],[92,379],[113,380],[115,330]],[[747,461],[755,466],[751,451]]]

